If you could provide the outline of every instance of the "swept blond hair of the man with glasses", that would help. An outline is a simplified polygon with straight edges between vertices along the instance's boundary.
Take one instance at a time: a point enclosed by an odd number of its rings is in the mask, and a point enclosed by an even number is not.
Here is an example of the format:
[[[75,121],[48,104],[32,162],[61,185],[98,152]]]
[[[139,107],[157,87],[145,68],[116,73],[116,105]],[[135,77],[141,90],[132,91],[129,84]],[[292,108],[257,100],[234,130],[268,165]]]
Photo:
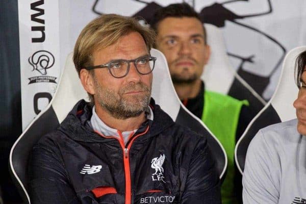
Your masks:
[[[101,15],[82,30],[73,50],[73,62],[78,74],[84,67],[93,66],[93,52],[108,47],[122,36],[138,32],[144,39],[148,51],[155,40],[155,32],[141,25],[136,18],[116,14]]]

